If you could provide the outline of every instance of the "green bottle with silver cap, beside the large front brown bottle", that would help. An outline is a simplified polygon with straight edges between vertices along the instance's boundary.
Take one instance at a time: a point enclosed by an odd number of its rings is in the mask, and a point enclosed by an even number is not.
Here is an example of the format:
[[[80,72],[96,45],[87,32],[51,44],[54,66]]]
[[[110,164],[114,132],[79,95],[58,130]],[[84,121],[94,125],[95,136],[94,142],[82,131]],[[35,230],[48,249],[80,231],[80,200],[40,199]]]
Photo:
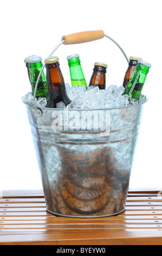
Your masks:
[[[31,79],[31,88],[32,94],[34,95],[35,85],[42,69],[42,58],[40,56],[31,56],[28,59],[29,68],[30,68],[30,79]],[[48,87],[46,82],[46,76],[44,75],[44,71],[41,74],[40,81],[38,82],[36,99],[38,97],[46,97],[47,101],[49,100]]]

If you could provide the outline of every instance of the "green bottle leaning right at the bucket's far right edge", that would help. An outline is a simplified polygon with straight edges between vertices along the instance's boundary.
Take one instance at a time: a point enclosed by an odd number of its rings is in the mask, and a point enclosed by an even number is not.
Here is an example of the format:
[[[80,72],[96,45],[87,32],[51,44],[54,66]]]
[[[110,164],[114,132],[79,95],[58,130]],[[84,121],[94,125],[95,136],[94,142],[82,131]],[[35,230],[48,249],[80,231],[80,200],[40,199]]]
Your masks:
[[[124,94],[128,94],[130,98],[139,101],[147,74],[151,68],[151,64],[145,62],[145,60],[139,59],[137,68],[135,69],[131,80],[129,80],[127,87],[124,90]]]

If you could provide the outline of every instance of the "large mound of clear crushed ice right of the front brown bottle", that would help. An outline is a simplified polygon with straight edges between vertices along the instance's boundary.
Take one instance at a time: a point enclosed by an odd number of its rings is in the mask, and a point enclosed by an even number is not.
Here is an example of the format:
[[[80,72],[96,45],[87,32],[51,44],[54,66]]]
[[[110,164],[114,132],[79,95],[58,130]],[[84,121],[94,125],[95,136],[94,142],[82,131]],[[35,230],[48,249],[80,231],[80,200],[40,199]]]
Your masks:
[[[122,95],[125,90],[123,86],[111,85],[105,90],[90,86],[86,90],[85,86],[71,87],[66,83],[66,90],[70,100],[72,100],[68,108],[114,108],[146,101],[145,95],[140,96],[139,102],[129,99],[128,95]]]

